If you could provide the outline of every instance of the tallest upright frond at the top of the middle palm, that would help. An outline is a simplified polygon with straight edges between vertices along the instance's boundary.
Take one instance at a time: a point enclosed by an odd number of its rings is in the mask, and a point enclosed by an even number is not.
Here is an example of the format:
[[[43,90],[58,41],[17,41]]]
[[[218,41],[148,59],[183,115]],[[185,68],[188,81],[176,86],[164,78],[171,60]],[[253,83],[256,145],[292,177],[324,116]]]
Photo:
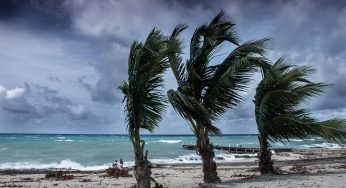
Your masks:
[[[204,24],[195,30],[190,43],[190,58],[186,63],[188,82],[194,85],[193,93],[199,98],[204,89],[210,59],[218,52],[223,42],[238,45],[235,24],[225,12],[221,11],[209,24]]]

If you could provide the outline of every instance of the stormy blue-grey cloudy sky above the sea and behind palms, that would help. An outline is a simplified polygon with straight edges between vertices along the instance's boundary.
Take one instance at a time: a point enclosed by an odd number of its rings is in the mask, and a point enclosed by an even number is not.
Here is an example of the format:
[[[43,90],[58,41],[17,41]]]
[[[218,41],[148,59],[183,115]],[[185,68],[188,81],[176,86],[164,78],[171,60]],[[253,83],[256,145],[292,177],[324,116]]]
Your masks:
[[[0,133],[126,134],[118,85],[131,43],[154,27],[168,35],[185,23],[187,57],[196,27],[221,10],[242,42],[270,37],[270,60],[288,56],[316,68],[314,81],[333,84],[305,104],[314,117],[346,117],[346,1],[1,0]],[[257,133],[260,79],[254,74],[244,101],[215,122],[223,133]],[[165,91],[176,88],[169,71],[165,80]],[[168,104],[155,134],[192,132]]]

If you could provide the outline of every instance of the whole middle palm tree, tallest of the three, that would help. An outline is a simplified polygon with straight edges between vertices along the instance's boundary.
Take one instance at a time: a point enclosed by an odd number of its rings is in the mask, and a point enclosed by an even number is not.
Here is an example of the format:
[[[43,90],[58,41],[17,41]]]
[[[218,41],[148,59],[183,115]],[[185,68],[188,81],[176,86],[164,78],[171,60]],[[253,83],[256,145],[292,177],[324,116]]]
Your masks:
[[[174,32],[173,32],[174,33]],[[221,11],[209,24],[198,27],[190,43],[190,57],[182,63],[181,51],[168,55],[177,90],[168,91],[174,109],[186,119],[196,136],[196,152],[202,158],[205,182],[217,182],[214,151],[209,135],[220,134],[214,122],[242,100],[240,91],[247,89],[251,72],[257,66],[268,66],[263,54],[268,39],[248,41],[239,45],[235,24]],[[236,45],[219,64],[211,60],[225,42]],[[171,40],[181,49],[179,40]]]

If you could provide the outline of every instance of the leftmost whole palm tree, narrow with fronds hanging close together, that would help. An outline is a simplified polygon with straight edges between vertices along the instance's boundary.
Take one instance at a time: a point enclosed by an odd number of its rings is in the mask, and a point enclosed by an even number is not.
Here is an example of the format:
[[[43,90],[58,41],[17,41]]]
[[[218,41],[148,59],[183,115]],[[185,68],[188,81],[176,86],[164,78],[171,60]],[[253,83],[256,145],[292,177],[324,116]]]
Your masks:
[[[124,94],[127,129],[135,153],[135,177],[140,188],[150,187],[150,162],[144,155],[140,130],[152,132],[161,120],[167,99],[162,91],[168,68],[165,37],[152,30],[144,43],[133,42],[128,60],[128,81],[119,88]]]

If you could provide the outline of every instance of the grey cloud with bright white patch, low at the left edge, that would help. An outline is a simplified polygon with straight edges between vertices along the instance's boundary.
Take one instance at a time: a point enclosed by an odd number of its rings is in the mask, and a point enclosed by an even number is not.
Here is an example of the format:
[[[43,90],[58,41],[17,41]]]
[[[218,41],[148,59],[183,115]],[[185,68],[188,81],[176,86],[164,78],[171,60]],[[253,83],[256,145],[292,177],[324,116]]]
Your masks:
[[[57,90],[46,86],[25,84],[25,87],[6,89],[0,85],[2,110],[9,120],[29,120],[58,114],[66,115],[70,120],[93,121],[98,117],[84,105],[75,104],[59,96]]]

